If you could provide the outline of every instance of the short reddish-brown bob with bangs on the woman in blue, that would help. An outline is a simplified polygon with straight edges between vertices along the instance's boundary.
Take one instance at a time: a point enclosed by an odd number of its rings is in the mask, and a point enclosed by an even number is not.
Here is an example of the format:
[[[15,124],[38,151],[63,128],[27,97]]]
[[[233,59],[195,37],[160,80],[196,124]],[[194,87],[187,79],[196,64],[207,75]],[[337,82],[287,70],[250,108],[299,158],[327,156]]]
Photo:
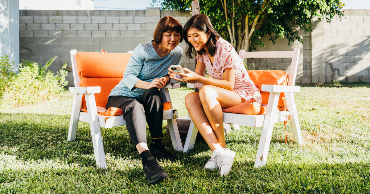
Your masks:
[[[182,42],[182,25],[179,20],[176,20],[172,16],[165,16],[161,20],[159,20],[157,27],[154,30],[154,42],[157,44],[162,44],[163,33],[168,31],[175,31],[180,33],[180,42]]]

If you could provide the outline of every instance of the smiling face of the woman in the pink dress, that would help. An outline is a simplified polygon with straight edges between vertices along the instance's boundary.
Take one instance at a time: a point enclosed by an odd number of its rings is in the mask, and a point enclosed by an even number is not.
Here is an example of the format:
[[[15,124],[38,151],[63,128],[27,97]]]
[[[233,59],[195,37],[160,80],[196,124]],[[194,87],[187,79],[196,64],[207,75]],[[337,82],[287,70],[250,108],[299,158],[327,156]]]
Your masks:
[[[211,34],[210,31],[208,33],[204,33],[203,31],[200,31],[196,28],[189,28],[188,29],[188,41],[194,46],[196,51],[200,51],[204,48],[204,50],[207,49],[207,41],[208,37]]]

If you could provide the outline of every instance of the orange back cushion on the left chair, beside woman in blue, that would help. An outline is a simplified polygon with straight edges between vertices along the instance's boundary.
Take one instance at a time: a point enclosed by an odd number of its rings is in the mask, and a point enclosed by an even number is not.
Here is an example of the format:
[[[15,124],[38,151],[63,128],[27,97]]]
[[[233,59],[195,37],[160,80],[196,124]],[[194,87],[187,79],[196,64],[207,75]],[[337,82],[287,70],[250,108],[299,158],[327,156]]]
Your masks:
[[[100,86],[100,93],[95,93],[97,106],[107,108],[108,95],[121,80],[131,54],[77,52],[77,72],[80,87]],[[86,109],[85,96],[82,106]]]

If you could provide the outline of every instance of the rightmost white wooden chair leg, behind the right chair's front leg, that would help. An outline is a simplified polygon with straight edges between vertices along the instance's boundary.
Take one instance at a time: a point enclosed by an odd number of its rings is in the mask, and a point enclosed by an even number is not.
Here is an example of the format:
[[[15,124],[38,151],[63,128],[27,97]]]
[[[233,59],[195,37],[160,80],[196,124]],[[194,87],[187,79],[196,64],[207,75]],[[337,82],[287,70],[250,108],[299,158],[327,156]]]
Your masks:
[[[285,100],[286,106],[288,108],[288,112],[290,112],[290,125],[292,126],[293,138],[294,141],[303,144],[302,134],[300,131],[299,120],[298,120],[298,113],[296,102],[294,100],[293,92],[285,92]]]

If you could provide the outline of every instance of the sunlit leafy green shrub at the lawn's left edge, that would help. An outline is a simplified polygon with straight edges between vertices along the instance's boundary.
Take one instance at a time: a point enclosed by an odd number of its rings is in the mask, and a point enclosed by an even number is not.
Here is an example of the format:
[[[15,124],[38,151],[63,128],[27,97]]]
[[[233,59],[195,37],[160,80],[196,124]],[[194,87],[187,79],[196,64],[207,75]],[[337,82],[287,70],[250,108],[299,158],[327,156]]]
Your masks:
[[[13,76],[11,84],[1,96],[0,109],[40,103],[53,99],[63,92],[64,86],[68,84],[65,80],[67,71],[63,70],[67,64],[65,63],[57,75],[54,75],[46,69],[54,60],[55,57],[49,59],[43,68],[36,62],[23,60],[19,74]]]

